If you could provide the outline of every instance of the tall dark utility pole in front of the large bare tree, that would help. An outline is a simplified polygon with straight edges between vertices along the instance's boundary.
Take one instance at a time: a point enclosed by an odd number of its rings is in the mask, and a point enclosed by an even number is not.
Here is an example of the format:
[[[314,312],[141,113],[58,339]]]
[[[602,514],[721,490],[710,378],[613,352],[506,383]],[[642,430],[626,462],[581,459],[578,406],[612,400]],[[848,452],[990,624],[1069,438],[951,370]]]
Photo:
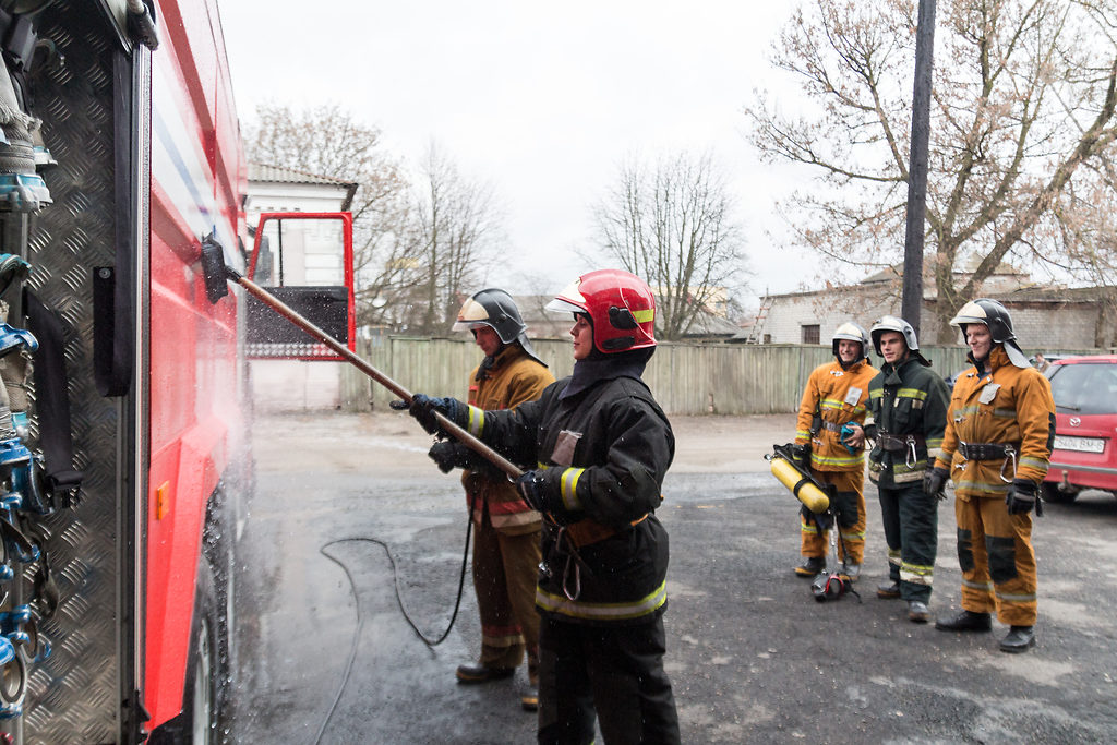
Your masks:
[[[927,214],[927,149],[930,140],[930,71],[935,59],[935,0],[919,0],[911,94],[911,152],[908,155],[907,235],[904,239],[904,296],[900,315],[919,333],[923,311],[923,235]]]

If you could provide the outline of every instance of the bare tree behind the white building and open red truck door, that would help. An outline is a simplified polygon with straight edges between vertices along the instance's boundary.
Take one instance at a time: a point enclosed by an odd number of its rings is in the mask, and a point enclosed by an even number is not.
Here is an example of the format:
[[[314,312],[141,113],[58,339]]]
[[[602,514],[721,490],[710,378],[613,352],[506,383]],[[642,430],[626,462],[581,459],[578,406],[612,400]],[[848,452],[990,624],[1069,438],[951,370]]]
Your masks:
[[[380,130],[336,105],[257,107],[247,128],[249,160],[357,183],[354,229],[357,324],[390,321],[393,303],[418,264],[407,180]]]

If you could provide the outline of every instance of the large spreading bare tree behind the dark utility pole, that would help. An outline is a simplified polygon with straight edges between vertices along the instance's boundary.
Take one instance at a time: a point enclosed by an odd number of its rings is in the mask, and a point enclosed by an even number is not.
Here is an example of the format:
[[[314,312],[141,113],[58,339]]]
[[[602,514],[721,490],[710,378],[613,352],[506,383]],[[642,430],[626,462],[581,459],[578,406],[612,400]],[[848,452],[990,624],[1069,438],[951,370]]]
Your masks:
[[[937,331],[947,338],[948,319],[1002,261],[1080,266],[1059,214],[1069,216],[1076,182],[1096,181],[1117,139],[1117,7],[943,0],[939,17],[927,246]],[[798,78],[814,108],[790,117],[757,94],[746,114],[765,157],[805,164],[822,180],[781,206],[798,240],[830,264],[896,262],[915,2],[813,0],[774,49],[775,66]]]

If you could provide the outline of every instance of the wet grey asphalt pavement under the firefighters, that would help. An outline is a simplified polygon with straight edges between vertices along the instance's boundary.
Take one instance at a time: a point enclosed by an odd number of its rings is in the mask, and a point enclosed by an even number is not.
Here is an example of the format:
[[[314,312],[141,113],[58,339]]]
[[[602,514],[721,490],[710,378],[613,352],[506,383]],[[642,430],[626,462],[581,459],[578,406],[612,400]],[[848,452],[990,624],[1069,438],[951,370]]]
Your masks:
[[[237,743],[529,743],[512,680],[455,682],[479,639],[467,574],[454,629],[466,510],[457,479],[414,462],[365,464],[313,422],[267,422],[240,538]],[[336,428],[330,428],[333,431]],[[287,448],[287,449],[285,449]],[[270,453],[270,456],[268,455]],[[292,453],[285,457],[285,453]],[[298,453],[296,457],[294,453]],[[412,460],[409,460],[412,459]],[[763,464],[757,469],[763,468]],[[1037,520],[1038,646],[997,650],[1006,629],[960,634],[878,600],[886,577],[875,489],[861,602],[818,603],[792,573],[794,498],[766,472],[669,474],[666,615],[685,743],[1117,742],[1117,499],[1089,493]],[[933,617],[957,608],[951,503],[939,510]],[[386,545],[386,550],[385,550]],[[394,563],[393,563],[394,562]]]

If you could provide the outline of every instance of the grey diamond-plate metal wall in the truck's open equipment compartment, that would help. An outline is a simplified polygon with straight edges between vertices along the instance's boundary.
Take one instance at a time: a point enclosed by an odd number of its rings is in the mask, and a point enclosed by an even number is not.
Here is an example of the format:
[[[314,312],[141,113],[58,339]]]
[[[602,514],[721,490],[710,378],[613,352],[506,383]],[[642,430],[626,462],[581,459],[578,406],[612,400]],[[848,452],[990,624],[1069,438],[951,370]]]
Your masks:
[[[32,77],[35,112],[58,165],[42,174],[54,204],[36,218],[30,281],[66,326],[76,466],[85,471],[80,504],[46,520],[61,599],[41,624],[54,653],[30,676],[23,739],[49,745],[111,743],[118,732],[120,420],[117,402],[94,383],[90,280],[94,266],[114,262],[113,75],[111,38],[90,7],[57,2],[44,13],[40,37],[65,61],[41,64]]]

